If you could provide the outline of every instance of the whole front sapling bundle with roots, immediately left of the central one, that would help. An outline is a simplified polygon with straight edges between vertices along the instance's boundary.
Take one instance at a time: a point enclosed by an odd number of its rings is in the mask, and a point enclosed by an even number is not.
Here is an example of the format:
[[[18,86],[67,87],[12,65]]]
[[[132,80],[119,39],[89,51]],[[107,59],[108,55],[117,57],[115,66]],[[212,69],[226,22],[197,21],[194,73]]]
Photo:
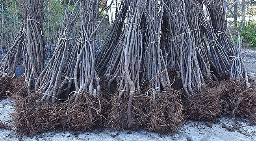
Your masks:
[[[105,99],[100,92],[100,78],[95,69],[95,33],[104,20],[100,18],[100,0],[80,0],[81,29],[75,45],[71,48],[61,83],[67,96],[67,126],[69,129],[91,130],[103,124],[102,105]],[[108,11],[110,6],[106,8]],[[99,20],[99,21],[98,21]]]

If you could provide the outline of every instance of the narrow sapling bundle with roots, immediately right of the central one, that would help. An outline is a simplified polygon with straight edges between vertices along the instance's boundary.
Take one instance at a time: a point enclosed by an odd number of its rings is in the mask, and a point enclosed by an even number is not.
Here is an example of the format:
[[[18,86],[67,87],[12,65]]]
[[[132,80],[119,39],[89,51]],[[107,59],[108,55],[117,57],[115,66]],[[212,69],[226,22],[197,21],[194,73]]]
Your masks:
[[[174,132],[183,121],[182,92],[171,88],[167,61],[161,48],[163,1],[148,0],[145,8],[147,30],[143,39],[143,80],[146,95],[152,98],[145,128],[154,132]]]

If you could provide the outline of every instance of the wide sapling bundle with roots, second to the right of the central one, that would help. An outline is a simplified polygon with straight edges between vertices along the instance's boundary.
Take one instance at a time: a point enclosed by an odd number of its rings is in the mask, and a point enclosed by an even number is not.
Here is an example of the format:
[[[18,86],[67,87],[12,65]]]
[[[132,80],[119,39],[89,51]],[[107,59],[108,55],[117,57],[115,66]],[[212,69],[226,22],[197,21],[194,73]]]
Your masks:
[[[202,5],[192,0],[172,0],[164,8],[167,12],[163,16],[162,45],[170,74],[182,82],[185,114],[195,119],[216,117],[221,105],[219,97],[206,89],[214,75],[210,73],[209,52],[200,31]]]

